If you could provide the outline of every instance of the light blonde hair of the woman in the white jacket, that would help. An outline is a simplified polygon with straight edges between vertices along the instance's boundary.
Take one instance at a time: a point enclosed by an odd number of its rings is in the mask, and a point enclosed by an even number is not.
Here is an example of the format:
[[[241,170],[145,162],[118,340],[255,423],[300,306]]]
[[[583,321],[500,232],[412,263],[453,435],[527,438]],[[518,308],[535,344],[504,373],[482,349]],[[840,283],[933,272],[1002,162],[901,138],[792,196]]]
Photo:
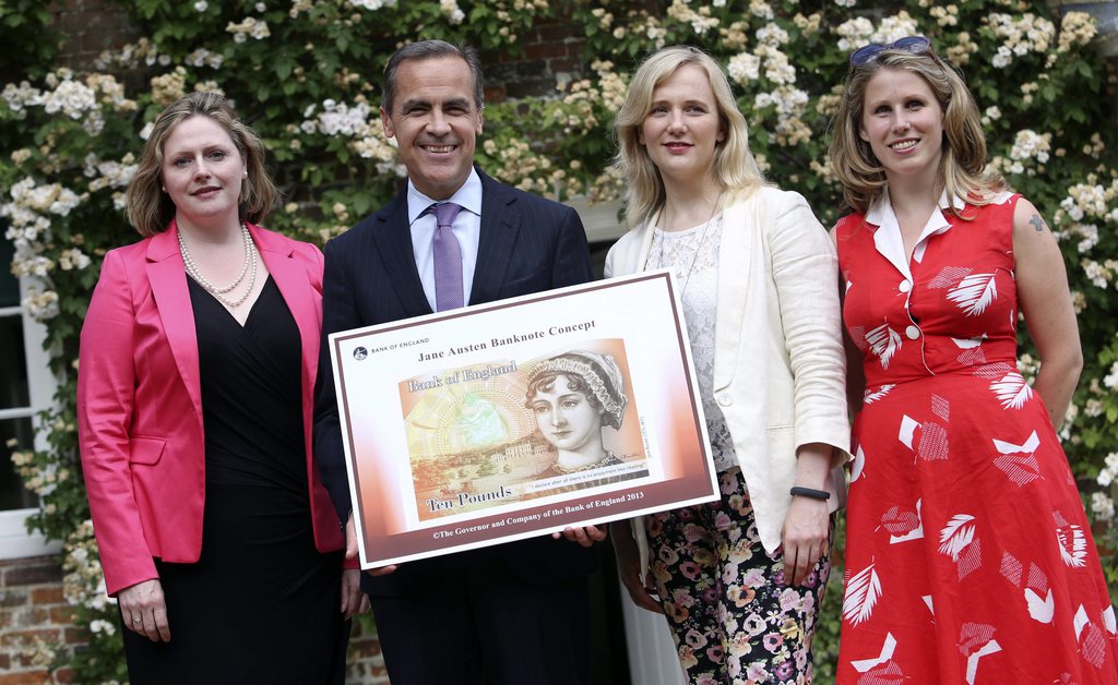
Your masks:
[[[641,144],[641,126],[652,108],[656,86],[685,65],[694,65],[707,73],[724,133],[723,140],[714,146],[713,181],[729,196],[748,196],[765,184],[757,160],[749,151],[746,118],[738,110],[722,68],[699,48],[666,47],[650,55],[633,74],[614,125],[618,143],[614,165],[626,181],[626,218],[631,228],[641,226],[664,206],[664,182],[647,149]]]

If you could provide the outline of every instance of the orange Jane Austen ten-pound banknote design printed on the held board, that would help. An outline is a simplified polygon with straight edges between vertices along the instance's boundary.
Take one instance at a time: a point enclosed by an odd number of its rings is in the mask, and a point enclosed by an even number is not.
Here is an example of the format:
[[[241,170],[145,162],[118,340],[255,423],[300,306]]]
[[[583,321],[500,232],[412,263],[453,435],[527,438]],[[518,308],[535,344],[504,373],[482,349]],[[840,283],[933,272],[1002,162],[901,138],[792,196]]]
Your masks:
[[[648,475],[620,339],[400,381],[420,522]]]

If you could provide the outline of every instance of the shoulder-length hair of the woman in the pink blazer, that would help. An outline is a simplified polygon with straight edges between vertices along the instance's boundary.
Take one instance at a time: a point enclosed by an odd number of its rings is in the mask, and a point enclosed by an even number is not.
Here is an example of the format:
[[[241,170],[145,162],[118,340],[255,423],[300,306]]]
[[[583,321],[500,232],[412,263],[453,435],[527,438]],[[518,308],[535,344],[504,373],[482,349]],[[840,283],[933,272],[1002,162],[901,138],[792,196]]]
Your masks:
[[[259,223],[272,211],[280,197],[264,168],[264,143],[259,136],[233,113],[229,101],[220,93],[191,93],[176,101],[159,115],[151,135],[140,153],[140,163],[129,182],[124,202],[129,222],[143,237],[167,229],[174,218],[174,202],[162,191],[163,145],[174,127],[191,116],[208,116],[229,134],[245,161],[248,178],[240,183],[240,218]]]

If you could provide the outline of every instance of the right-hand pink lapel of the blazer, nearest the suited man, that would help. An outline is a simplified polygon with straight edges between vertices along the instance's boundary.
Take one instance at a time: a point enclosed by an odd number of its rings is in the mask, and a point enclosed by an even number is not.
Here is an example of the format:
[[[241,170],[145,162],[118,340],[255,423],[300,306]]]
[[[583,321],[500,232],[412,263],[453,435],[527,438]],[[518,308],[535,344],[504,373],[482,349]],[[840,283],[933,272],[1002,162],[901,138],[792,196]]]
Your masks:
[[[312,401],[319,369],[319,344],[322,330],[321,275],[295,257],[291,242],[281,236],[248,223],[248,231],[260,250],[272,279],[283,295],[291,315],[299,324],[303,342],[303,403]]]

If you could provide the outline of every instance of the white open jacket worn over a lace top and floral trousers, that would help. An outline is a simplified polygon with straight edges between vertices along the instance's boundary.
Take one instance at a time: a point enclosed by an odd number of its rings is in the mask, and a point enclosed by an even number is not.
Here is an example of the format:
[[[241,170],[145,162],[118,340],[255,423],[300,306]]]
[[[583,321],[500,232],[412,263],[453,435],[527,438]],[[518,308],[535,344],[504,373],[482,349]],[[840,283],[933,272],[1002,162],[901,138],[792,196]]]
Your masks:
[[[644,269],[655,221],[610,248],[607,278]],[[839,449],[827,478],[831,511],[845,500],[839,467],[849,459],[850,422],[841,326],[839,259],[806,200],[765,187],[727,207],[713,389],[769,553],[780,545],[800,446]],[[633,527],[644,553],[643,525]]]

